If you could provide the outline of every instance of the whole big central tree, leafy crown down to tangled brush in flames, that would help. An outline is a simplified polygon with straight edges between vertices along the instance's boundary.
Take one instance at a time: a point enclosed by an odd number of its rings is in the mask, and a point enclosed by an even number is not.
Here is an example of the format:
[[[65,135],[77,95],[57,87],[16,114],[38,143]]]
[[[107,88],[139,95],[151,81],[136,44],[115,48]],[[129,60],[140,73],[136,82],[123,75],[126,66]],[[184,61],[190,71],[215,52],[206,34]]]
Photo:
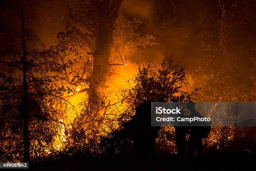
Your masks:
[[[123,55],[138,47],[156,45],[154,36],[136,32],[140,21],[130,21],[119,13],[121,3],[122,0],[84,0],[70,5],[64,31],[58,33],[58,42],[52,47],[61,56],[61,77],[67,77],[74,85],[70,86],[72,94],[66,97],[87,92],[80,104],[83,109],[72,123],[73,133],[87,135],[80,139],[84,142],[95,138],[90,142],[97,144],[99,135],[117,128],[115,121],[123,99],[118,91],[108,92],[105,82],[108,76],[118,74],[117,67],[126,66]],[[79,91],[76,86],[80,86]],[[79,141],[81,145],[84,142]]]

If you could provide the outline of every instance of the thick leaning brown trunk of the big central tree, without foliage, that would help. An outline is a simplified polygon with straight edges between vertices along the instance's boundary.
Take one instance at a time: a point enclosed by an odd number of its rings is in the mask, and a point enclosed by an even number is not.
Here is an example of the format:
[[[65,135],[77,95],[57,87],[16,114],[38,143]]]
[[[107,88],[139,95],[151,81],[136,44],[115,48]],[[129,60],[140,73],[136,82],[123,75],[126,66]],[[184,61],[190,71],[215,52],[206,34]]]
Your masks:
[[[98,36],[91,77],[92,82],[89,88],[89,101],[98,100],[96,93],[100,87],[105,87],[110,66],[110,45],[113,42],[113,27],[118,17],[121,3],[122,0],[105,0],[99,3],[99,15],[97,18],[97,26],[99,26],[99,28],[97,28]]]

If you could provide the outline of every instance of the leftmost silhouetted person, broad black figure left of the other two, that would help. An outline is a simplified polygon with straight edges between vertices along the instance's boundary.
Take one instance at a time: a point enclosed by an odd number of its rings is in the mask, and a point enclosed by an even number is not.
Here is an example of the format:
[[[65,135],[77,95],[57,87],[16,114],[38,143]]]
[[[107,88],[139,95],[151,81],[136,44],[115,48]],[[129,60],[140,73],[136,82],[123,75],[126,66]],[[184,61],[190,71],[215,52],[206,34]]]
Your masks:
[[[124,124],[125,130],[134,141],[134,152],[139,155],[155,153],[154,140],[159,127],[151,127],[151,102],[145,100],[136,107],[136,115]]]

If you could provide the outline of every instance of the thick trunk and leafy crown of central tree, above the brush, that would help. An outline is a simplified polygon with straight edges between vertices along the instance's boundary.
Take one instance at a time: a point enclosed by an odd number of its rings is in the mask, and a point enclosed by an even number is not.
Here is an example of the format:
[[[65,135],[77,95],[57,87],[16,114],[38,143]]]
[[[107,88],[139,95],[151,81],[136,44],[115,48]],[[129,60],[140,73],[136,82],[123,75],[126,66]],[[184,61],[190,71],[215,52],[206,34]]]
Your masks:
[[[64,31],[58,34],[59,44],[67,47],[66,54],[76,54],[83,63],[78,79],[89,85],[82,92],[88,92],[90,101],[98,100],[97,93],[106,87],[111,67],[125,67],[123,53],[132,52],[139,46],[156,45],[154,36],[135,33],[140,21],[129,21],[119,14],[122,2],[81,0],[73,3],[69,6]],[[116,63],[117,59],[121,62]]]

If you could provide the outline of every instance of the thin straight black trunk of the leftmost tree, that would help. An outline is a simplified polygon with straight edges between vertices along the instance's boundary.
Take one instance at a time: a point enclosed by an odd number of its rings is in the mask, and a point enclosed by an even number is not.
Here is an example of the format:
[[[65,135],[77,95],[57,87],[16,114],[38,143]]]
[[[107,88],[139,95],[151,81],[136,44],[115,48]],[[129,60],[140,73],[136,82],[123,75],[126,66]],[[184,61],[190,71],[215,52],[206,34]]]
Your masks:
[[[27,62],[26,62],[26,42],[25,42],[25,23],[23,9],[21,10],[22,19],[22,44],[23,44],[23,138],[24,138],[24,156],[23,161],[28,162],[30,160],[29,155],[29,133],[28,133],[28,87],[27,87]]]

